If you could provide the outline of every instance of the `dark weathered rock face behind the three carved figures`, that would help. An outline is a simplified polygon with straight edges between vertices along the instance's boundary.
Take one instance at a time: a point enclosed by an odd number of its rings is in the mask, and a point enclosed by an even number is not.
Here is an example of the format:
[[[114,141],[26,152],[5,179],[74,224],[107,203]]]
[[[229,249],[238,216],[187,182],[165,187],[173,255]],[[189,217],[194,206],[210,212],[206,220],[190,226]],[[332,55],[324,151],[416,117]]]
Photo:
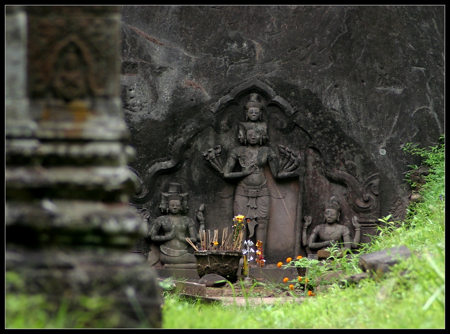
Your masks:
[[[179,182],[192,219],[205,203],[205,229],[229,227],[238,180],[211,159],[223,167],[242,146],[239,124],[257,93],[264,145],[279,160],[293,152],[302,161],[286,180],[264,171],[267,263],[310,252],[299,241],[303,217],[312,216],[310,234],[331,196],[351,236],[357,216],[369,241],[377,218],[405,215],[404,173],[420,165],[405,144],[435,145],[445,130],[444,14],[444,6],[123,6],[123,112],[141,181],[131,202],[151,221],[158,194]]]

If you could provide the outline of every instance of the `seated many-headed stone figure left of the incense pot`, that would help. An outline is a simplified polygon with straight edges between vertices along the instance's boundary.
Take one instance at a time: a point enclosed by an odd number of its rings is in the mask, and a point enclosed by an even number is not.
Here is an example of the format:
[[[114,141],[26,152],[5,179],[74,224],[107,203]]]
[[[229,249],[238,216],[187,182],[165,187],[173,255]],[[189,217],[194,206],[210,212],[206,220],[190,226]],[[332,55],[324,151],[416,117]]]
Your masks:
[[[147,264],[163,268],[196,269],[193,248],[186,237],[195,244],[195,222],[183,214],[187,211],[187,194],[181,193],[179,183],[170,183],[168,193],[162,193],[161,211],[167,215],[157,217],[151,224],[146,240],[151,241]]]

